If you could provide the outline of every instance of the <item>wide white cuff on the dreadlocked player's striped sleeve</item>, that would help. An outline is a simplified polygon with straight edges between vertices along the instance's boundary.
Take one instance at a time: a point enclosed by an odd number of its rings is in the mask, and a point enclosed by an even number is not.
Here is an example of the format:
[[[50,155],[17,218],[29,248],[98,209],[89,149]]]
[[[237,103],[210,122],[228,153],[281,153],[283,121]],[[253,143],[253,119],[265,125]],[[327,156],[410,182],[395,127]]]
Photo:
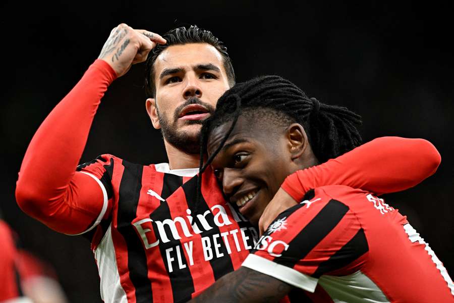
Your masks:
[[[248,267],[259,273],[274,277],[295,287],[314,292],[317,279],[300,273],[293,268],[274,263],[268,259],[249,254],[241,266]]]

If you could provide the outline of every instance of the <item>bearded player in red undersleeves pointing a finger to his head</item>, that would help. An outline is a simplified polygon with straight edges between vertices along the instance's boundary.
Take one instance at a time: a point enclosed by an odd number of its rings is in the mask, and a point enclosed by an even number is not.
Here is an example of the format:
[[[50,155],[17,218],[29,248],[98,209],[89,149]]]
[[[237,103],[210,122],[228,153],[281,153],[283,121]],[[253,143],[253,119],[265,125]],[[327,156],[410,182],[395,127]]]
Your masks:
[[[107,87],[144,61],[146,109],[162,130],[168,163],[141,165],[104,154],[78,166]],[[254,246],[255,227],[226,203],[209,169],[202,202],[195,204],[201,123],[234,83],[226,49],[211,32],[192,26],[161,37],[121,24],[33,136],[17,202],[53,230],[91,240],[104,302],[189,300],[239,268]],[[382,148],[390,144],[397,147]],[[308,171],[305,183],[391,192],[416,185],[439,164],[424,140],[382,138],[344,156]],[[394,157],[398,166],[390,165]],[[420,166],[410,169],[414,161]],[[374,164],[380,169],[369,174]],[[333,173],[313,178],[326,169]]]

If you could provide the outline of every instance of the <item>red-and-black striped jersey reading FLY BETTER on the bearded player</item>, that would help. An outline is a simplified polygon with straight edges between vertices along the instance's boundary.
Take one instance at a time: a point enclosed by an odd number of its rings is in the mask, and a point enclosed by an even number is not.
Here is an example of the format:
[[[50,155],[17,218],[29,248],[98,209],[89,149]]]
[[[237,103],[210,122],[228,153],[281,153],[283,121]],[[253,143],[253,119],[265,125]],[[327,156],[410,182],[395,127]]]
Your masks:
[[[240,267],[258,238],[211,171],[196,203],[197,170],[178,176],[111,155],[78,170],[98,180],[103,211],[112,206],[92,240],[105,302],[187,301]]]

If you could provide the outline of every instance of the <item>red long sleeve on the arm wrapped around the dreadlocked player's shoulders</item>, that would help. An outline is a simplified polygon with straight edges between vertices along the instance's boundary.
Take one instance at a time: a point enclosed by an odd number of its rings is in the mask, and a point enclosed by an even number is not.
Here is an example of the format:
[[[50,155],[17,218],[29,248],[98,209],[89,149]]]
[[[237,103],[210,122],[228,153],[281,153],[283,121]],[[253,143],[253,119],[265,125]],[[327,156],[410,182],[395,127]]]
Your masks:
[[[311,189],[347,185],[376,194],[408,189],[435,173],[441,157],[427,140],[381,137],[321,165],[297,171],[281,187],[301,201]]]

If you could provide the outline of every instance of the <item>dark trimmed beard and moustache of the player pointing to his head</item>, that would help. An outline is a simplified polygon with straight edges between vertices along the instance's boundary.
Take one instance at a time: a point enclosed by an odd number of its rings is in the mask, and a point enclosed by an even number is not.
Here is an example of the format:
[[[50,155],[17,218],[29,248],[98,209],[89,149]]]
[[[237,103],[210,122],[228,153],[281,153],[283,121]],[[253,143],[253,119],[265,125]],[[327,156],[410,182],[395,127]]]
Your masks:
[[[159,112],[159,109],[156,107],[156,112],[161,125],[161,132],[164,139],[177,149],[184,151],[186,154],[200,154],[200,130],[197,133],[190,133],[188,131],[178,129],[178,116],[179,113],[188,105],[198,104],[205,107],[208,110],[208,113],[212,115],[214,113],[214,107],[211,105],[201,102],[197,97],[189,98],[184,104],[179,106],[173,116],[173,121],[167,120],[164,115]],[[200,124],[202,125],[203,120],[187,120],[185,121],[186,125]]]

